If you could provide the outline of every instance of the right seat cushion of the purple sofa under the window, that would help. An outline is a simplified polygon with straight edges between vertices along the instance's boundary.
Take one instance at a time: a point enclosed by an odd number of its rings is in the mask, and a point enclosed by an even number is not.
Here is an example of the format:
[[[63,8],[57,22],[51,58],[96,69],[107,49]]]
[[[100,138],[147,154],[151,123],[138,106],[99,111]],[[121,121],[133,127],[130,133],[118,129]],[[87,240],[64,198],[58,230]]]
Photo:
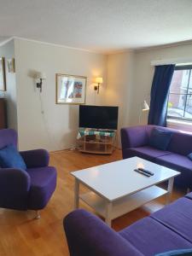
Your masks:
[[[166,154],[157,157],[154,162],[161,166],[166,166],[177,172],[180,175],[175,177],[175,183],[180,187],[192,187],[192,161],[182,154]]]

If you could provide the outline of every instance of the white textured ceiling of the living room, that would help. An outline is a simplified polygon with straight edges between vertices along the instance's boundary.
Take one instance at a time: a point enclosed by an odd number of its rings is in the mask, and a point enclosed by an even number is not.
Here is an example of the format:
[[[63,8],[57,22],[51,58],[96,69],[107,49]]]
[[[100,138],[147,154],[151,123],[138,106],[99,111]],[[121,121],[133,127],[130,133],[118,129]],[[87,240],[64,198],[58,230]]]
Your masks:
[[[0,41],[28,38],[98,52],[192,39],[191,0],[0,0]]]

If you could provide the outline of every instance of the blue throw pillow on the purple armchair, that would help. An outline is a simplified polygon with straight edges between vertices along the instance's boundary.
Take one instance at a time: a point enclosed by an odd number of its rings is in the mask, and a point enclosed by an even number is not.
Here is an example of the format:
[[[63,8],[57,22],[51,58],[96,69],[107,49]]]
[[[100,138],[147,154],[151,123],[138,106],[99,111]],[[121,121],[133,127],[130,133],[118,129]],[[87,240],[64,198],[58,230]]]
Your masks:
[[[26,170],[26,163],[14,145],[8,145],[0,149],[0,166],[2,168]]]

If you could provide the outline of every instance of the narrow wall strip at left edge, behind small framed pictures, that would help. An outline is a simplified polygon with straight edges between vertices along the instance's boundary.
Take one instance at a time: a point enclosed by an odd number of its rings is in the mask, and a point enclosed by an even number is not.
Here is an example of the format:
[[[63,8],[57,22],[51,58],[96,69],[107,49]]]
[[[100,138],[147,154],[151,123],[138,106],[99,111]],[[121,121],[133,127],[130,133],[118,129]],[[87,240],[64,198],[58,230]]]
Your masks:
[[[0,56],[5,58],[6,91],[0,91],[0,96],[6,98],[8,127],[17,130],[17,106],[15,73],[9,73],[8,59],[15,57],[14,40],[0,47]]]

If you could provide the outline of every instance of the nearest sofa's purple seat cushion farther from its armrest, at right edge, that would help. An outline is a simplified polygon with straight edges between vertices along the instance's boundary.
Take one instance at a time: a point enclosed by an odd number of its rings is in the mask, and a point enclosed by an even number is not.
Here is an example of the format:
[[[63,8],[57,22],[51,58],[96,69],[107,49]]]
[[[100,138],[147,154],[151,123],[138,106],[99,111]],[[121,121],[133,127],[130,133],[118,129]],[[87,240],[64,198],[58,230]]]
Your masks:
[[[154,212],[151,218],[192,243],[192,201],[188,198],[181,198]]]

